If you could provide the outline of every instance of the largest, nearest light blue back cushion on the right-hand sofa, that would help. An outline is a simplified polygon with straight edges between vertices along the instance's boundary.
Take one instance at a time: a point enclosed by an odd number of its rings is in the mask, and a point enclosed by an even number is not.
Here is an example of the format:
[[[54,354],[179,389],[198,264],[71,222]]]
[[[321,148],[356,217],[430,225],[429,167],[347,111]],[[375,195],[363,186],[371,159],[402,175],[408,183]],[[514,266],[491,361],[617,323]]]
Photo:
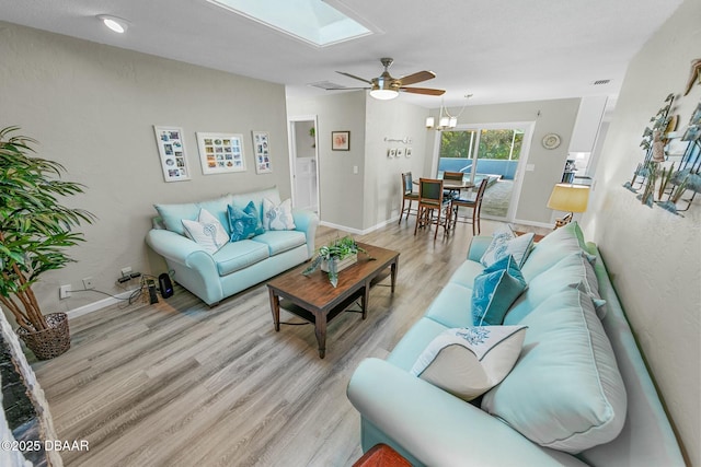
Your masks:
[[[535,443],[567,453],[616,439],[625,422],[625,387],[589,296],[565,288],[519,324],[529,327],[520,359],[482,408]]]

